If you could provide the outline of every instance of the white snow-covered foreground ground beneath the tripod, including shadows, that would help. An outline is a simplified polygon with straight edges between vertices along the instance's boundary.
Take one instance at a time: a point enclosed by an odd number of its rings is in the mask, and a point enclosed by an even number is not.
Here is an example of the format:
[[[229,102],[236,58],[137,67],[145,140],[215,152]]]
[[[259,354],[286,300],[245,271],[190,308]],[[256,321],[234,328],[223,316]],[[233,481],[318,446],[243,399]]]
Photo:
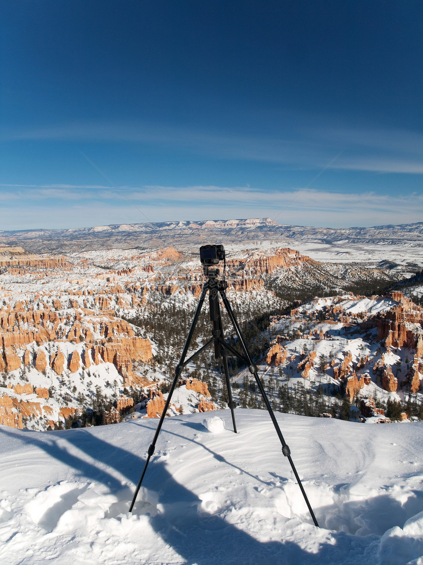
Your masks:
[[[0,434],[0,562],[423,564],[423,423],[358,425],[227,410]]]

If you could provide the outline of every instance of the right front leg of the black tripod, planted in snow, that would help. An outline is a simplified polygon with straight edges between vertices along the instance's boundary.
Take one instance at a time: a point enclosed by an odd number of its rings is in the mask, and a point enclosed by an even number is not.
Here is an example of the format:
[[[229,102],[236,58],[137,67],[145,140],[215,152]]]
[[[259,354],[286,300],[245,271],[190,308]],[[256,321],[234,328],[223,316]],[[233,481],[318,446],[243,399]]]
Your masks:
[[[279,437],[279,440],[280,440],[280,442],[281,442],[281,445],[282,445],[282,453],[285,455],[285,457],[288,458],[288,461],[289,461],[289,463],[290,463],[290,466],[291,466],[291,468],[292,468],[292,471],[293,471],[293,473],[294,473],[294,475],[295,475],[295,477],[296,477],[296,479],[297,479],[298,486],[299,486],[299,488],[300,488],[300,490],[301,490],[302,496],[304,497],[304,500],[305,500],[305,502],[306,502],[307,508],[309,509],[311,518],[312,518],[312,520],[314,521],[314,525],[317,526],[317,527],[319,527],[318,521],[316,520],[316,516],[314,515],[314,512],[313,512],[313,509],[312,509],[312,507],[311,507],[311,505],[310,505],[309,499],[307,498],[306,492],[305,492],[305,490],[304,490],[304,488],[303,488],[303,486],[302,486],[301,480],[299,479],[297,470],[296,470],[296,468],[295,468],[295,466],[294,466],[294,462],[293,462],[293,460],[292,460],[292,458],[291,458],[291,451],[290,451],[290,449],[289,449],[289,447],[288,447],[288,445],[287,445],[287,442],[285,442],[285,440],[284,440],[284,436],[282,435],[282,432],[281,432],[281,430],[280,430],[279,424],[277,423],[275,413],[274,413],[274,411],[272,410],[272,407],[271,407],[271,405],[270,405],[270,402],[269,402],[269,400],[268,400],[268,398],[267,398],[266,391],[265,391],[265,389],[263,388],[263,385],[262,385],[262,383],[261,383],[261,380],[259,379],[258,372],[257,372],[257,366],[255,366],[255,364],[253,363],[252,358],[250,357],[250,354],[249,354],[249,352],[248,352],[248,349],[247,349],[247,347],[246,347],[246,345],[245,345],[244,338],[243,338],[243,336],[242,336],[242,334],[241,334],[240,327],[239,327],[239,325],[238,325],[238,323],[237,323],[237,321],[236,321],[236,319],[235,319],[235,315],[233,314],[231,305],[230,305],[230,303],[229,303],[229,301],[228,301],[228,299],[227,299],[227,296],[226,296],[224,290],[220,290],[219,292],[220,292],[220,294],[221,294],[224,307],[226,308],[226,310],[227,310],[227,312],[228,312],[228,315],[229,315],[229,317],[230,317],[230,319],[231,319],[233,328],[235,329],[235,332],[236,332],[236,334],[237,334],[237,336],[238,336],[238,339],[239,339],[239,341],[240,341],[241,347],[242,347],[242,349],[244,350],[245,357],[248,359],[248,362],[249,362],[249,367],[248,367],[248,368],[249,368],[249,371],[250,371],[250,373],[252,373],[252,374],[254,375],[254,379],[255,379],[255,381],[256,381],[256,383],[257,383],[257,385],[258,385],[258,388],[259,388],[259,391],[260,391],[260,393],[261,393],[261,395],[262,395],[263,401],[265,402],[267,411],[268,411],[268,413],[269,413],[269,415],[270,415],[270,418],[271,418],[271,420],[272,420],[272,423],[273,423],[273,425],[274,425],[274,427],[275,427],[277,436]]]

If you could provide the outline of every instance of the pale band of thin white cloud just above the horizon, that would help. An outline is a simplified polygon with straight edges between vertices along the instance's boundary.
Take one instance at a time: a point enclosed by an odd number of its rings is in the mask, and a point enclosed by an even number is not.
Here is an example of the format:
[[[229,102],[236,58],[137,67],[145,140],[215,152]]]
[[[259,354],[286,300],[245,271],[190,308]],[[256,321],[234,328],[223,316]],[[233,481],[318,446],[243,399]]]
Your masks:
[[[64,190],[64,194],[67,192]],[[104,191],[106,192],[106,191]],[[78,228],[93,225],[143,223],[144,218],[118,194],[99,198],[86,191],[59,205],[54,198],[2,199],[0,227],[3,230],[35,228]],[[263,192],[254,188],[153,186],[128,189],[126,194],[152,221],[206,220],[231,218],[275,218],[298,194],[296,190]],[[95,198],[94,198],[95,197]],[[284,210],[281,224],[350,227],[401,224],[421,221],[423,194],[381,198],[375,193],[342,193],[307,189]]]

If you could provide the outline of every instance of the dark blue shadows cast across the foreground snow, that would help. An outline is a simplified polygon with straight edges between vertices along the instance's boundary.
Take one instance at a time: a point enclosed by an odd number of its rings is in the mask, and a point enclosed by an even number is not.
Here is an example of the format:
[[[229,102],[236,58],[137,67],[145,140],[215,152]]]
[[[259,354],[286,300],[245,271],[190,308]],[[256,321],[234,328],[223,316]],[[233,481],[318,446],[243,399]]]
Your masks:
[[[136,425],[146,428],[146,433],[151,432],[153,436],[154,431],[151,427],[140,423]],[[16,437],[14,433],[8,432],[6,429],[2,429],[2,431]],[[163,429],[162,432],[167,431]],[[42,449],[50,457],[74,468],[77,471],[77,477],[81,480],[102,483],[107,486],[111,493],[122,491],[124,487],[122,487],[121,480],[117,479],[111,472],[101,468],[101,466],[107,466],[126,477],[134,485],[138,484],[145,459],[121,447],[113,446],[85,429],[55,432],[54,435],[46,433],[45,438],[42,439],[39,439],[38,434],[38,437],[32,436],[32,433],[22,434],[20,440]],[[173,432],[168,433],[174,434]],[[184,441],[192,441],[206,449],[219,462],[230,464],[221,455],[214,453],[200,442],[190,440],[187,437],[183,437],[183,439]],[[98,465],[70,453],[66,447],[67,444],[86,453],[90,458],[94,458]],[[242,471],[245,473],[244,470]],[[193,467],[193,472],[195,472],[195,467]],[[250,476],[259,481],[258,477]],[[324,563],[331,565],[333,563],[336,565],[352,565],[358,562],[361,565],[374,564],[377,547],[368,551],[371,549],[369,545],[374,546],[374,543],[377,543],[374,536],[371,536],[370,540],[369,537],[360,538],[345,532],[327,532],[327,535],[321,535],[321,531],[318,531],[318,536],[321,538],[318,553],[309,553],[288,539],[268,542],[258,541],[218,515],[201,513],[199,511],[201,501],[196,494],[186,486],[177,483],[166,469],[165,464],[155,462],[154,457],[149,464],[146,477],[144,477],[143,486],[147,487],[148,490],[157,492],[157,503],[161,505],[161,511],[150,518],[152,528],[166,544],[173,547],[186,560],[187,564],[239,565],[243,563],[243,565],[256,565],[257,563],[265,563],[266,565],[293,565],[301,563],[302,565],[318,565]],[[127,501],[127,511],[129,511],[129,505],[130,499]],[[137,514],[137,510],[142,506],[142,493],[140,492],[134,507],[134,514]],[[274,511],[276,512],[276,509]],[[311,528],[311,525],[304,524],[302,527],[296,520],[291,528],[287,528],[287,531],[292,528],[306,530]],[[312,536],[311,529],[302,537],[307,536]],[[143,543],[142,539],[139,540],[139,543]]]

